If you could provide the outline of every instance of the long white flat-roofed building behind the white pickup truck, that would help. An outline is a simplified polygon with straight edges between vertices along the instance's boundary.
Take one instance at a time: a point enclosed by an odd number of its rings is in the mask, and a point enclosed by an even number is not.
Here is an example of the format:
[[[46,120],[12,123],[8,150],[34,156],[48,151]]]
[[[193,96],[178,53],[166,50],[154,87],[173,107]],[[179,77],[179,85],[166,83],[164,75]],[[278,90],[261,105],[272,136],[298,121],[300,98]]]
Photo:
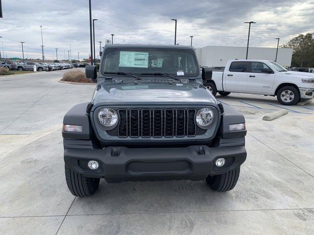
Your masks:
[[[245,59],[246,47],[207,46],[195,48],[201,66],[225,67],[228,60]],[[270,47],[249,47],[248,59],[275,61],[276,49]],[[278,48],[277,63],[290,67],[292,48]]]

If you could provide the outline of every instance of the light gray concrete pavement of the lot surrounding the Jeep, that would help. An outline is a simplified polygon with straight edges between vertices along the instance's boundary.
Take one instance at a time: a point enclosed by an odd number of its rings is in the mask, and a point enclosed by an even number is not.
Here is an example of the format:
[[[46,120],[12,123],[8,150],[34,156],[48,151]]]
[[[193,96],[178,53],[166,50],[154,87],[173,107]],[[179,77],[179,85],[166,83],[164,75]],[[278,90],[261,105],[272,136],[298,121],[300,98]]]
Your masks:
[[[213,192],[205,182],[102,180],[95,195],[78,198],[65,183],[61,124],[95,87],[58,83],[64,72],[0,77],[4,234],[313,233],[314,102],[287,107],[269,96],[217,95],[244,114],[248,129],[247,161],[232,191]],[[282,109],[288,114],[262,120]]]

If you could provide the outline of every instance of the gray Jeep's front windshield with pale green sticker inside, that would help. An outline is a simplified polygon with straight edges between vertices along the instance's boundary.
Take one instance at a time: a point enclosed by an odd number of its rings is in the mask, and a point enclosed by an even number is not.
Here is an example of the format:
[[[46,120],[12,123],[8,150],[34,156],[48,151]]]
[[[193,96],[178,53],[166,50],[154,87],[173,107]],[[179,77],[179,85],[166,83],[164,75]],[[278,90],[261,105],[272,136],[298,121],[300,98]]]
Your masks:
[[[102,72],[112,73],[110,76],[128,72],[138,76],[166,73],[174,77],[195,77],[199,69],[191,49],[116,47],[105,49]]]

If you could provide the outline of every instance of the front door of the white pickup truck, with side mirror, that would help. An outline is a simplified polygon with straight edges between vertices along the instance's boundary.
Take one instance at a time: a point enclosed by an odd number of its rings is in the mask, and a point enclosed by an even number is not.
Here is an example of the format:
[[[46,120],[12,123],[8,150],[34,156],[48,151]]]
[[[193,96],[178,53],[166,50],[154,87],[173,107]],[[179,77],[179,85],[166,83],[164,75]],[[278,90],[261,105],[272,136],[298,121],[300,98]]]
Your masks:
[[[272,73],[262,72],[272,71]],[[257,94],[272,94],[275,80],[274,71],[262,62],[251,62],[249,77],[247,80],[247,92]]]

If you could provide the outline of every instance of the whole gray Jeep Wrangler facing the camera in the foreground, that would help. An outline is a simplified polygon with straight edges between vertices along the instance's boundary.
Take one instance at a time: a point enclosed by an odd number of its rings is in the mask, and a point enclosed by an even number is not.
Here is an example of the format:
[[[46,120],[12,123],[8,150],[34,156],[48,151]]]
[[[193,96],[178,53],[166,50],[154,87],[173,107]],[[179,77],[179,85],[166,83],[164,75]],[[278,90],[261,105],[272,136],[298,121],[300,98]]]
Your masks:
[[[73,195],[107,183],[206,180],[235,187],[246,159],[245,120],[203,86],[193,47],[106,45],[89,103],[63,119],[65,176]]]

